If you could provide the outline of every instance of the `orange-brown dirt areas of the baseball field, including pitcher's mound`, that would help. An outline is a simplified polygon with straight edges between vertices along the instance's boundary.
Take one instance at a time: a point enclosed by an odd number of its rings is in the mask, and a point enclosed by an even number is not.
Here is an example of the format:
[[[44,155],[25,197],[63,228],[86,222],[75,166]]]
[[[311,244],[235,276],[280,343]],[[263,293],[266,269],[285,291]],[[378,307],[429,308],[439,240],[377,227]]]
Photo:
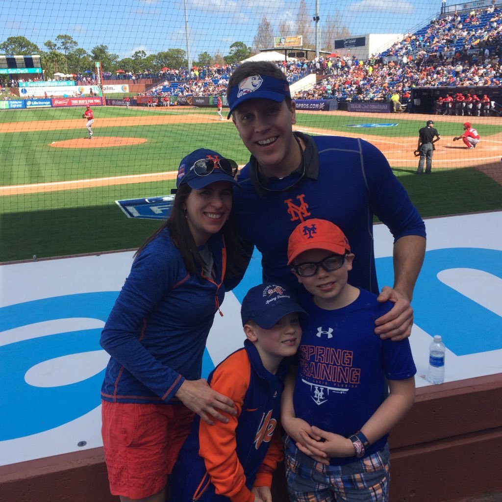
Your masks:
[[[61,142],[53,142],[49,146],[56,148],[104,148],[114,146],[128,146],[144,143],[147,140],[144,138],[125,138],[125,137],[99,137],[100,127],[131,127],[131,126],[147,126],[161,124],[179,124],[179,123],[211,123],[217,120],[217,117],[202,113],[183,113],[184,110],[172,110],[169,114],[158,114],[156,109],[151,109],[150,116],[124,116],[122,118],[101,118],[97,119],[93,125],[94,137],[92,140],[85,138],[66,140]],[[150,110],[149,110],[150,111]],[[167,110],[162,110],[162,112]],[[305,112],[299,113],[319,113]],[[357,113],[347,113],[341,111],[323,112],[332,115],[343,114],[345,116],[360,116]],[[393,115],[389,113],[374,113],[375,119],[396,120],[403,122],[405,120],[425,120],[429,119],[429,115]],[[373,117],[372,116],[372,117]],[[494,117],[473,117],[476,123],[493,123]],[[445,117],[448,121],[458,121],[462,124],[465,117]],[[437,118],[440,121],[440,118]],[[474,121],[474,120],[473,120]],[[231,124],[226,122],[228,126]],[[233,127],[233,126],[232,126]],[[70,120],[45,120],[38,122],[11,122],[0,124],[0,133],[22,133],[29,131],[50,131],[64,129],[84,129],[81,119]],[[296,130],[311,134],[333,134],[333,131],[320,128],[297,127]],[[441,131],[439,131],[441,132]],[[418,159],[413,155],[413,151],[417,147],[417,138],[389,138],[384,136],[373,136],[357,133],[343,132],[343,136],[351,138],[361,138],[379,148],[389,160],[391,166],[405,166],[410,169],[415,169],[418,165]],[[418,131],[417,131],[418,135]],[[502,134],[492,135],[489,138],[482,139],[478,147],[474,150],[466,150],[459,143],[453,143],[451,138],[443,137],[437,144],[434,152],[433,169],[448,169],[462,167],[476,167],[492,179],[502,184]],[[0,187],[0,196],[2,195],[18,195],[23,193],[50,192],[58,190],[71,190],[77,188],[88,188],[107,185],[121,185],[130,183],[141,183],[149,181],[160,181],[174,179],[175,172],[152,173],[145,175],[129,175],[129,176],[113,176],[107,178],[94,178],[85,180],[62,181],[53,183],[36,183],[29,185],[15,185]]]

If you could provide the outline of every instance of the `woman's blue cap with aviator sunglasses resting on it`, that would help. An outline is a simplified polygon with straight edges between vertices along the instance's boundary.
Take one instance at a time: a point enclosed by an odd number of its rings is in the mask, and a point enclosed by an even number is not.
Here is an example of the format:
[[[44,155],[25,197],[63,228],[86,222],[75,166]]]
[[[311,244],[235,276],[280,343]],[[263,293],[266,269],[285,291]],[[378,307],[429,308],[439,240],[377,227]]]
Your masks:
[[[195,163],[200,160],[205,161],[207,165],[210,166],[209,174],[197,174]],[[231,171],[230,163],[233,163],[233,161],[225,159],[214,150],[199,148],[191,154],[188,154],[180,162],[178,176],[176,178],[176,188],[186,183],[190,188],[198,190],[217,181],[227,181],[233,185],[239,186],[233,175],[229,172]],[[236,167],[235,163],[233,163],[233,165]],[[210,169],[212,169],[212,171]],[[171,190],[171,192],[174,193],[175,191]]]

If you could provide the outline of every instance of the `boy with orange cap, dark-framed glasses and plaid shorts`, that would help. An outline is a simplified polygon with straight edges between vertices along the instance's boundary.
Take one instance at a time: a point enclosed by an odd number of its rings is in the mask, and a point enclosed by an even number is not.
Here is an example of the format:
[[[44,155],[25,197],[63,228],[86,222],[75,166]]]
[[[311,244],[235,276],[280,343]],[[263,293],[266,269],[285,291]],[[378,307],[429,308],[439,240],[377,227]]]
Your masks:
[[[307,219],[289,237],[288,264],[312,295],[281,403],[292,501],[387,502],[387,437],[415,400],[409,341],[374,336],[374,319],[392,305],[347,283],[353,260],[330,221]]]

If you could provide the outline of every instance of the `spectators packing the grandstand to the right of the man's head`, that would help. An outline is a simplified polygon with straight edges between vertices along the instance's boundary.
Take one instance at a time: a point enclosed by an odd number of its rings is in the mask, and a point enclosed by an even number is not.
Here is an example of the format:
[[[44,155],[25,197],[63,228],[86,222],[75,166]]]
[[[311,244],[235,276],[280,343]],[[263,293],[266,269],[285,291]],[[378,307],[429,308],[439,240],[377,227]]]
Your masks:
[[[297,93],[297,99],[384,101],[395,90],[405,94],[419,86],[500,85],[502,10],[489,7],[484,13],[435,19],[366,61],[355,56],[328,59],[326,78]]]

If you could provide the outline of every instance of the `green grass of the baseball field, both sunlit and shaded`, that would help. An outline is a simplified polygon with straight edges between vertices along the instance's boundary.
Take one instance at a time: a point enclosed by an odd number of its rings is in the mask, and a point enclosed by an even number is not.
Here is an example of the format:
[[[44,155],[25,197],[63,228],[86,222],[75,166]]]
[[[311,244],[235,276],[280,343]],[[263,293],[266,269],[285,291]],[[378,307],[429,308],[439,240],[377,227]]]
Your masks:
[[[176,114],[179,109],[96,107],[96,122],[104,117]],[[187,108],[185,116],[208,114],[214,109]],[[80,138],[82,129],[65,129],[65,120],[81,115],[80,108],[9,110],[0,113],[0,123],[15,121],[60,120],[53,131],[0,134],[3,159],[0,185],[19,185],[77,179],[91,179],[128,174],[176,170],[181,158],[196,148],[210,147],[235,159],[247,162],[233,124],[215,120],[209,124],[166,124],[156,126],[109,127],[95,129],[95,135],[147,138],[147,143],[128,147],[96,149],[60,149],[52,141]],[[379,136],[416,136],[423,120],[406,120],[395,128],[358,130],[347,124],[391,122],[371,116],[348,117],[299,113],[298,126],[317,127],[343,133],[363,131]],[[441,117],[444,118],[444,117]],[[84,122],[82,120],[82,122]],[[439,122],[439,120],[438,120]],[[498,123],[498,122],[497,122]],[[436,124],[441,134],[459,134],[458,123]],[[486,137],[502,126],[479,127]],[[435,171],[434,176],[417,177],[415,169],[393,166],[396,176],[424,217],[458,214],[502,208],[502,187],[476,169]],[[127,218],[115,200],[168,195],[174,181],[112,185],[96,188],[0,196],[0,262],[98,253],[138,247],[159,226],[159,221]]]

